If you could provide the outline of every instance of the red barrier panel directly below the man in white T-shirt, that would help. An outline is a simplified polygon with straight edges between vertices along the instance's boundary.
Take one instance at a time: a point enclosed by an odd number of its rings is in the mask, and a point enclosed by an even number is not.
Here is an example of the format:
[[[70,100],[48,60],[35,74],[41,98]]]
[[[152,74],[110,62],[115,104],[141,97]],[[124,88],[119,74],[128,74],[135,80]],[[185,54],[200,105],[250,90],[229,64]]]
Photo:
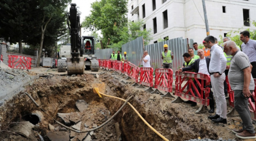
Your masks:
[[[153,72],[154,69],[151,67],[141,67],[140,68],[140,80],[139,83],[141,85],[145,85],[148,87],[153,87]]]

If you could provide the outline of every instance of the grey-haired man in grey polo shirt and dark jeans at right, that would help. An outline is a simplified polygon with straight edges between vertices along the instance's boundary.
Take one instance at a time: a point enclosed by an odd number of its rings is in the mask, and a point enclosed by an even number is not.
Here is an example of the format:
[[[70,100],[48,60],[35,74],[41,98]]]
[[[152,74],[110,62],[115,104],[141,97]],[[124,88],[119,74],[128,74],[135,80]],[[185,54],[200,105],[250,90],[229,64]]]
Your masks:
[[[239,51],[233,41],[224,43],[224,52],[233,56],[228,72],[228,80],[231,89],[234,90],[235,109],[243,121],[243,128],[233,129],[232,132],[241,139],[255,139],[255,131],[248,108],[248,99],[252,96],[254,90],[254,80],[251,74],[252,65],[250,65],[248,56]]]

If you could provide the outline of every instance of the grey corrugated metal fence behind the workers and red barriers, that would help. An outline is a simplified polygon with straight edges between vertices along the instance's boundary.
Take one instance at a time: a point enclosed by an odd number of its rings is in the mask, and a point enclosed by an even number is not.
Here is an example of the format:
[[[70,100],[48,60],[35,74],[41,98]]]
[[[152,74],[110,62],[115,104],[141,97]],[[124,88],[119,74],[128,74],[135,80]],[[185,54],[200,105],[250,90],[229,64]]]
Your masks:
[[[183,65],[184,59],[182,55],[187,52],[188,45],[189,47],[193,47],[193,39],[183,39],[182,37],[180,37],[163,42],[153,43],[150,45],[145,45],[145,51],[148,51],[148,54],[150,56],[150,65],[154,70],[163,68],[161,53],[164,50],[164,44],[167,44],[169,46],[169,50],[171,50],[174,54],[173,71],[175,72]],[[95,56],[97,57],[97,59],[109,59],[112,51],[113,49],[96,50]],[[122,55],[124,51],[127,52],[128,61],[138,66],[143,56],[143,36],[122,45]]]

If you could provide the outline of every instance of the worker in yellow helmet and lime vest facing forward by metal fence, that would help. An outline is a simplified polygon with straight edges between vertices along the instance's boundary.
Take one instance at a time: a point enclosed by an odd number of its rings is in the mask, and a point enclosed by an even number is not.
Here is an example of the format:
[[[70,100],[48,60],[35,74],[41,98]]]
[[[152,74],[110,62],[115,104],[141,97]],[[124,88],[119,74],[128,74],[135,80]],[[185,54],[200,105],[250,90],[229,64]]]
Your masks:
[[[164,44],[163,48],[165,49],[161,54],[161,58],[163,60],[163,69],[172,69],[173,52],[168,49],[167,44]]]

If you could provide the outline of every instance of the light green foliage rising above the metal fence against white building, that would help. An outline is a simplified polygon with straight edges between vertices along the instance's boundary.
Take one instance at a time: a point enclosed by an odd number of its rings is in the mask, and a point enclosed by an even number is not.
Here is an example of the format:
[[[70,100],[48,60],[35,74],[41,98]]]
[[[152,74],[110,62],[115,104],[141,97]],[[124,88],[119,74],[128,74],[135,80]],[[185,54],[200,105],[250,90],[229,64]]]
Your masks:
[[[144,38],[144,45],[148,45],[150,40],[152,40],[151,36],[151,29],[143,29],[143,25],[145,22],[143,20],[139,20],[136,22],[128,22],[127,26],[124,26],[122,30],[118,29],[117,27],[113,27],[114,31],[117,32],[121,41],[118,43],[113,43],[109,45],[110,48],[119,48],[121,50],[122,45],[128,43],[136,38],[143,36]]]

